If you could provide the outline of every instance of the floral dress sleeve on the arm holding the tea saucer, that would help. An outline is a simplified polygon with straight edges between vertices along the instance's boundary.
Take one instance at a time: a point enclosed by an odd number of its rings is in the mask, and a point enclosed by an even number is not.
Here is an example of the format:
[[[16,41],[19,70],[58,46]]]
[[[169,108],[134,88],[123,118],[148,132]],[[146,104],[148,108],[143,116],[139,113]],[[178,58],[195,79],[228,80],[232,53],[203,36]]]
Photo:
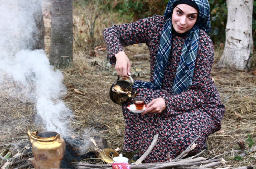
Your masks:
[[[177,114],[196,109],[203,104],[207,97],[214,97],[214,82],[210,72],[214,59],[214,49],[212,41],[208,35],[200,39],[200,45],[197,54],[197,60],[194,70],[193,85],[188,91],[180,94],[163,95],[167,113]]]

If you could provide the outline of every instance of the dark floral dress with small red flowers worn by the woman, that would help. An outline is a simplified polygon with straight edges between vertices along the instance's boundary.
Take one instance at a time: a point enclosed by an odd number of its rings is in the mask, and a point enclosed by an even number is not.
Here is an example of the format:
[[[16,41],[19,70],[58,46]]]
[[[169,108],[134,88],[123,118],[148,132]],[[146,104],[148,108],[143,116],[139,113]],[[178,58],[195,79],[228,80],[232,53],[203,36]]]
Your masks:
[[[110,63],[115,64],[115,54],[124,51],[122,46],[146,43],[150,51],[150,82],[154,82],[153,72],[161,31],[165,23],[163,16],[155,15],[137,22],[113,25],[103,31],[108,47]],[[192,153],[199,152],[208,136],[221,128],[225,107],[220,100],[210,72],[214,59],[214,49],[210,37],[199,32],[200,45],[192,86],[180,94],[172,92],[172,85],[178,67],[181,49],[186,37],[173,35],[172,50],[165,68],[165,78],[161,89],[136,88],[139,96],[146,97],[146,104],[152,99],[162,97],[166,110],[162,113],[146,115],[132,113],[127,105],[122,105],[125,119],[125,139],[123,150],[139,150],[141,156],[148,149],[155,134],[159,134],[156,145],[144,160],[163,162],[175,158],[195,141],[198,144]]]

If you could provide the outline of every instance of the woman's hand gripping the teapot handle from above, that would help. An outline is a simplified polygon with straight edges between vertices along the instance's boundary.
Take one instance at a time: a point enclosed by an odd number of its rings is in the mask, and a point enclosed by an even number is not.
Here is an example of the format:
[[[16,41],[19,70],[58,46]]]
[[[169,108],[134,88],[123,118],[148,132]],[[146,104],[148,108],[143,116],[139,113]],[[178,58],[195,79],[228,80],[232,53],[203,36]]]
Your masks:
[[[115,63],[115,70],[117,72],[117,75],[122,77],[131,76],[131,63],[125,52],[118,52],[117,54],[115,54],[115,57],[117,59]]]

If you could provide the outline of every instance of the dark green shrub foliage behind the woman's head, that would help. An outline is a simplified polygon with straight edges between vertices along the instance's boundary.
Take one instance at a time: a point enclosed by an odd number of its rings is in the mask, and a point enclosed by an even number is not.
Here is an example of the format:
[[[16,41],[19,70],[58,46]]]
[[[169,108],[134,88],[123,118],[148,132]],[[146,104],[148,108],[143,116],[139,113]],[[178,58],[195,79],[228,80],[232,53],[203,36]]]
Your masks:
[[[138,20],[154,14],[163,15],[169,0],[120,0],[113,8],[126,16],[128,20]],[[210,36],[215,44],[225,42],[225,28],[227,22],[226,0],[209,0],[211,26]],[[256,44],[256,1],[253,3],[253,39]]]

